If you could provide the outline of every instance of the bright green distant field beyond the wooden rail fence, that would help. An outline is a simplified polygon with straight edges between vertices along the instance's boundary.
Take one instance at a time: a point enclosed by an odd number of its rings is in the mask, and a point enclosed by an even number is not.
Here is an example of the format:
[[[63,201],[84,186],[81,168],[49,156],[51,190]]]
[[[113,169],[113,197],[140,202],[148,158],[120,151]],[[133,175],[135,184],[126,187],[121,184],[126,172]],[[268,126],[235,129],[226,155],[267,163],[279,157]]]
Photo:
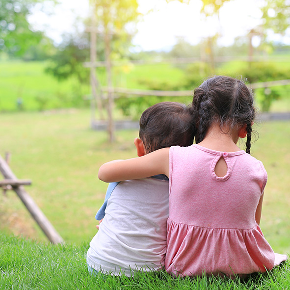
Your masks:
[[[73,78],[57,81],[44,73],[47,65],[47,62],[0,61],[0,111],[17,111],[18,98],[22,98],[23,108],[29,111],[89,105],[86,96],[90,94],[88,86],[79,87]],[[216,68],[216,74],[238,76],[238,71],[246,65],[241,61],[221,63]],[[290,61],[279,62],[277,65],[284,69],[289,67]],[[100,68],[98,75],[100,81],[105,83],[104,69]],[[185,72],[177,66],[162,63],[116,67],[113,76],[115,86],[138,89],[147,89],[146,81],[178,86],[186,77]],[[273,103],[271,110],[290,111],[290,85],[278,89],[282,98]]]

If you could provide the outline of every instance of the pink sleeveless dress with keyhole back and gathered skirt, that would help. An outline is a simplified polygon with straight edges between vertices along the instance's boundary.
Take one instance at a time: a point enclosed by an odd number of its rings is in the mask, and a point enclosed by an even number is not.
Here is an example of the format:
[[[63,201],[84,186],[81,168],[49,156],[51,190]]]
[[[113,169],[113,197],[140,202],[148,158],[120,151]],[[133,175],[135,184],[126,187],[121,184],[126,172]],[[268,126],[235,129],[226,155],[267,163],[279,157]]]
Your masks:
[[[227,163],[224,177],[214,172],[219,158]],[[287,260],[273,252],[255,220],[267,182],[261,161],[197,144],[171,147],[169,160],[167,272],[233,276]]]

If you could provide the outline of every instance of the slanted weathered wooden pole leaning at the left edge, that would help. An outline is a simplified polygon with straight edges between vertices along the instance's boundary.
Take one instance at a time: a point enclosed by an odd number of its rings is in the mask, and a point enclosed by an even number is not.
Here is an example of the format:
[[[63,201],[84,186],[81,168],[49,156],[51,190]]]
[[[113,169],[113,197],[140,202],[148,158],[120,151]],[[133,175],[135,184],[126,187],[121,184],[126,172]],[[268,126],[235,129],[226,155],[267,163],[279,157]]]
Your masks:
[[[16,176],[7,165],[5,160],[0,156],[0,171],[5,179],[17,180]],[[48,239],[53,243],[64,243],[63,239],[53,228],[53,225],[49,222],[44,213],[39,209],[34,200],[28,195],[28,193],[24,190],[23,186],[15,186],[12,187],[16,194],[19,196],[21,201],[26,206],[27,210],[30,212],[34,220],[38,223],[44,234],[48,237]]]

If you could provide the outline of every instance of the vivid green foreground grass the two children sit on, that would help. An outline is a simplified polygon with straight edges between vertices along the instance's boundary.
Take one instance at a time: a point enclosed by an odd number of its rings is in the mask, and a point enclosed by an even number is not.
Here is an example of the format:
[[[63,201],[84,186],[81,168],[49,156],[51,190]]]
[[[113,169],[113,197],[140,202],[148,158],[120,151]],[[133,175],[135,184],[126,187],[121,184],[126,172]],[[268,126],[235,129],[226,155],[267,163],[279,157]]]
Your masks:
[[[52,245],[0,233],[0,289],[39,290],[280,290],[290,289],[290,262],[241,281],[220,277],[174,278],[164,271],[126,276],[92,276],[85,254],[88,241],[79,245]]]

